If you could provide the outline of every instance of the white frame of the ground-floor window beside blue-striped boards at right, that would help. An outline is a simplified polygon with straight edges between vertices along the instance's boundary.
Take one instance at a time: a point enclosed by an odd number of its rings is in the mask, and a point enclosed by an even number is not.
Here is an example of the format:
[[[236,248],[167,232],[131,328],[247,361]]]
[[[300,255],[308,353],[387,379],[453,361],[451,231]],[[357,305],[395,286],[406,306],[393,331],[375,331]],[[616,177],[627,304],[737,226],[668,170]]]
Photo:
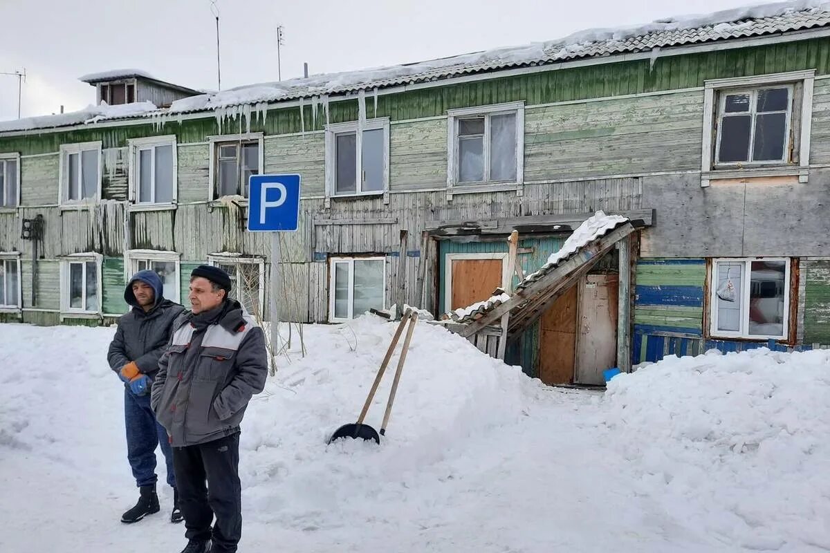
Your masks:
[[[784,326],[783,333],[779,336],[768,334],[757,335],[749,334],[749,295],[751,289],[749,282],[751,279],[751,269],[753,261],[783,261],[784,262]],[[718,330],[718,264],[743,264],[744,269],[741,278],[743,289],[741,290],[740,298],[740,331],[730,332],[725,330]],[[790,302],[792,301],[792,265],[789,257],[719,257],[711,260],[711,272],[709,277],[709,335],[712,338],[742,338],[747,340],[765,341],[770,338],[774,340],[786,340],[789,338],[789,310]]]

